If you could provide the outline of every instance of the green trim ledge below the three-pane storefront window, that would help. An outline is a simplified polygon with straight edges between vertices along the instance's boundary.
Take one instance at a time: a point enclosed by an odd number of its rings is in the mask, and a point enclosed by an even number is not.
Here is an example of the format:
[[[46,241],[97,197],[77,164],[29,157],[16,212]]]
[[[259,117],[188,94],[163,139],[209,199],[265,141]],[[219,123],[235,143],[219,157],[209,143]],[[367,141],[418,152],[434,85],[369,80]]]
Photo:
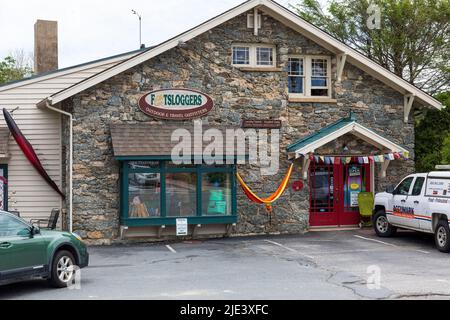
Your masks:
[[[122,225],[128,227],[174,226],[177,219],[188,219],[188,224],[233,224],[237,223],[237,216],[202,216],[202,217],[171,217],[149,219],[122,219]]]

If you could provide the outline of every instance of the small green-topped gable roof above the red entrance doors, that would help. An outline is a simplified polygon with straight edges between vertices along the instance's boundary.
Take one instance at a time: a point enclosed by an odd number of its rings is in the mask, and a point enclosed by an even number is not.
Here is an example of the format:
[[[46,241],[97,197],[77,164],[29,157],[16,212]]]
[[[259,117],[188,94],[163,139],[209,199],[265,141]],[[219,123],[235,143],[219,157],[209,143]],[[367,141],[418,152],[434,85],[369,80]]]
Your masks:
[[[399,146],[389,139],[359,124],[353,113],[351,113],[349,117],[332,123],[329,126],[326,126],[319,131],[316,131],[313,134],[291,144],[287,147],[287,151],[290,155],[294,155],[295,158],[300,158],[301,156],[305,156],[309,153],[314,153],[314,151],[318,148],[348,133],[363,139],[381,150],[384,149],[390,152],[409,153],[409,151],[402,146]]]

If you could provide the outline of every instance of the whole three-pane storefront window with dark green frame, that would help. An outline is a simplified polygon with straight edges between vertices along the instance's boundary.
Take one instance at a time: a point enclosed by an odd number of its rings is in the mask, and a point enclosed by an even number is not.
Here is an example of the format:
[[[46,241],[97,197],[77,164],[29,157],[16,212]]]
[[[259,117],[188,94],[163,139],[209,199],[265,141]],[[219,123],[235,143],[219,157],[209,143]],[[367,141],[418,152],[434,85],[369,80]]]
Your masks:
[[[122,170],[124,225],[170,225],[176,218],[198,224],[235,221],[234,165],[129,161]]]

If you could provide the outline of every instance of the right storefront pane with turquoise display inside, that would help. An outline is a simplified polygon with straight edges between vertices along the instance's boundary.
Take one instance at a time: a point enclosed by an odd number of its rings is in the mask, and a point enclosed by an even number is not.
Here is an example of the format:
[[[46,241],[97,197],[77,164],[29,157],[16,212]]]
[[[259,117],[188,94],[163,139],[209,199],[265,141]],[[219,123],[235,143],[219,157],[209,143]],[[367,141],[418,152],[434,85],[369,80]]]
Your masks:
[[[231,177],[227,173],[202,175],[202,211],[208,216],[231,215]]]

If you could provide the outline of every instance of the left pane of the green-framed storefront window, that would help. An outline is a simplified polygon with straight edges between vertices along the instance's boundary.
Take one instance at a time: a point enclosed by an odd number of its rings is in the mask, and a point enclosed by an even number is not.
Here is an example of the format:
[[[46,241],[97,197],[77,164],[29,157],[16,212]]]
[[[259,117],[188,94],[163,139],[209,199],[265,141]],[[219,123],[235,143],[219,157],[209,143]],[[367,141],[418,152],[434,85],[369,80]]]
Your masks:
[[[160,217],[161,174],[133,173],[128,181],[129,217]]]

